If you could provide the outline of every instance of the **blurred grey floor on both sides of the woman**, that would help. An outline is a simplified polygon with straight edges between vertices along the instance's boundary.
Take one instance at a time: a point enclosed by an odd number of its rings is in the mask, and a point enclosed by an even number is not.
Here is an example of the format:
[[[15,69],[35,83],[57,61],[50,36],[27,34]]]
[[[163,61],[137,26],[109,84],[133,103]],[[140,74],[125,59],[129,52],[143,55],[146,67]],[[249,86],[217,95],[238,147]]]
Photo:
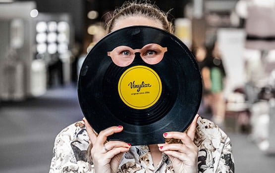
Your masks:
[[[82,117],[74,85],[23,102],[1,102],[0,173],[48,173],[55,135]],[[275,172],[275,155],[260,151],[248,134],[226,132],[235,173]]]

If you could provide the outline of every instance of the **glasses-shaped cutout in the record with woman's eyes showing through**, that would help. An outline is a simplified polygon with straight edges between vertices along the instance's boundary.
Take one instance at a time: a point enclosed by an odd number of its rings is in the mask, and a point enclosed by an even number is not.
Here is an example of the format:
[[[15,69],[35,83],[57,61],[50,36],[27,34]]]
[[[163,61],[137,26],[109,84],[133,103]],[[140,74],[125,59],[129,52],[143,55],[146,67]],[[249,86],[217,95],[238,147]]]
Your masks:
[[[156,43],[146,44],[141,49],[132,49],[129,46],[120,45],[109,51],[108,56],[117,66],[126,67],[134,61],[137,52],[140,53],[141,58],[147,64],[157,64],[163,59],[166,51],[167,47],[162,47]]]

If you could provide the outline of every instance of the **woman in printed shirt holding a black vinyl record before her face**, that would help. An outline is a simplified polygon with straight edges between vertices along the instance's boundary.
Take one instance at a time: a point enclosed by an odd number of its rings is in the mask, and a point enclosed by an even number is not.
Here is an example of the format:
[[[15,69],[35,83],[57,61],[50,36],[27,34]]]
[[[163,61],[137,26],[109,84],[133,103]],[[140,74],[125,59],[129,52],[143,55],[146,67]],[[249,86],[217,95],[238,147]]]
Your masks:
[[[107,31],[146,25],[173,32],[167,14],[147,2],[126,2],[116,9]],[[228,136],[212,122],[198,115],[186,132],[165,132],[162,144],[131,146],[106,141],[122,126],[97,134],[86,119],[62,130],[55,139],[50,173],[203,173],[234,172]],[[78,135],[81,133],[81,135]],[[79,137],[80,136],[80,137]]]

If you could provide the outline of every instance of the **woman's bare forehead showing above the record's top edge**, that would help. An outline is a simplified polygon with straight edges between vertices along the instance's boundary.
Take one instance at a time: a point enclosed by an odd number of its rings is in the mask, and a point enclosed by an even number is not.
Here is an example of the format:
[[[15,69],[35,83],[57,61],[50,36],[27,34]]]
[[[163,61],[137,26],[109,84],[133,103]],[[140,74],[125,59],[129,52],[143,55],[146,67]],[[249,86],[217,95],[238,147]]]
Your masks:
[[[114,22],[113,28],[111,30],[115,31],[121,28],[129,27],[129,26],[136,26],[136,25],[142,25],[142,26],[151,26],[151,27],[156,27],[160,29],[163,28],[163,24],[161,21],[156,21],[153,19],[150,19],[148,17],[144,16],[121,16],[117,18]]]

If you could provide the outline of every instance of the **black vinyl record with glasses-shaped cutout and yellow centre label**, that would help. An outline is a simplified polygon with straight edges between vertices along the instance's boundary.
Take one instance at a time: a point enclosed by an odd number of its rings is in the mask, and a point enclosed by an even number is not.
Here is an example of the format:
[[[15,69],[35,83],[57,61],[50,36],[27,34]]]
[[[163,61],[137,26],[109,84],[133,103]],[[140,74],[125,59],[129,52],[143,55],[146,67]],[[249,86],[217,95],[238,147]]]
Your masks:
[[[123,126],[108,140],[163,143],[163,133],[184,131],[202,97],[198,65],[174,35],[153,27],[114,31],[87,54],[78,79],[84,116],[97,132]]]

